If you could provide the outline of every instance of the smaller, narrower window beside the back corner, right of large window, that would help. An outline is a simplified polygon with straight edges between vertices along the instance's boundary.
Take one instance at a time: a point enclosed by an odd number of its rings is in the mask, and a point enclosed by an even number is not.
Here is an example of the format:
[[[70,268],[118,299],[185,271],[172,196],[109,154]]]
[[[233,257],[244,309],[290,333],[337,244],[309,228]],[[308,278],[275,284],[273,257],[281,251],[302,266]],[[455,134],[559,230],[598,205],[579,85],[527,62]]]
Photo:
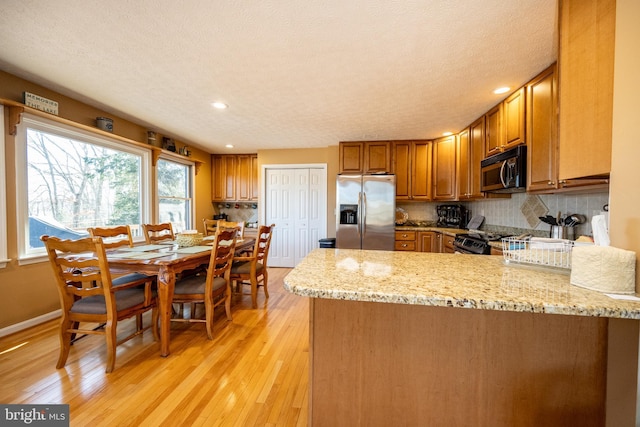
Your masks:
[[[174,232],[191,229],[193,225],[193,186],[191,164],[159,159],[158,220],[170,222]]]

